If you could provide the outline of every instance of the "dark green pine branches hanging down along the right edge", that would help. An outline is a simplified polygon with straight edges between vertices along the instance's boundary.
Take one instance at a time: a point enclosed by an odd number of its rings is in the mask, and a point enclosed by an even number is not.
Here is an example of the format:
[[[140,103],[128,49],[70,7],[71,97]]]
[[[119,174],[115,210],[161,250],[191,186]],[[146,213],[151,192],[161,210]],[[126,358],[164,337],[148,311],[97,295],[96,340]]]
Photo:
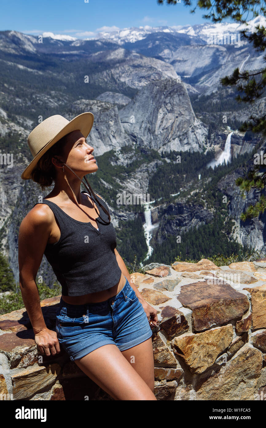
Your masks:
[[[191,0],[183,0],[185,6],[192,6]],[[164,0],[157,0],[158,4],[163,4]],[[175,5],[178,3],[176,0],[167,0],[167,4]],[[225,18],[231,18],[238,24],[247,24],[248,19],[256,18],[258,15],[266,16],[266,3],[260,0],[198,0],[194,9],[190,10],[190,13],[195,13],[195,10],[199,6],[200,9],[207,9],[210,12],[203,15],[203,18],[210,19],[212,22],[221,22]],[[243,18],[245,16],[245,18]],[[248,42],[253,43],[253,47],[256,51],[264,51],[266,48],[266,28],[257,25],[256,32],[249,33],[248,29],[241,30],[240,33]],[[264,61],[266,56],[263,57]],[[266,89],[266,68],[260,71],[248,72],[244,70],[239,71],[239,68],[235,68],[231,76],[225,76],[220,79],[220,83],[223,86],[237,86],[237,92],[239,94],[235,98],[238,102],[245,102],[254,104],[255,100],[260,98]],[[239,127],[239,131],[252,131],[253,133],[261,133],[266,136],[266,114],[261,116],[249,116],[249,121],[243,122]],[[248,171],[247,177],[238,178],[235,183],[242,190],[242,196],[245,197],[245,191],[249,191],[252,187],[263,190],[266,184],[266,175],[264,173],[264,165],[259,164],[252,166]],[[257,217],[261,212],[263,213],[266,207],[265,198],[262,195],[260,201],[254,205],[249,205],[246,213],[242,213],[240,218],[246,220],[247,217]]]

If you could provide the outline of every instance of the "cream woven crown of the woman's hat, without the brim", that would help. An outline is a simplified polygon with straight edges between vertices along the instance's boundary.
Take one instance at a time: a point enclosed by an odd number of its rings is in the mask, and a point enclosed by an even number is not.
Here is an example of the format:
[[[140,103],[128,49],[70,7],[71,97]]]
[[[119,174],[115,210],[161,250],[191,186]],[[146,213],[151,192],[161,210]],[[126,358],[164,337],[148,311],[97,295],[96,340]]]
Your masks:
[[[28,137],[28,146],[33,158],[51,141],[58,132],[69,123],[60,114],[47,117],[43,122],[34,128]]]

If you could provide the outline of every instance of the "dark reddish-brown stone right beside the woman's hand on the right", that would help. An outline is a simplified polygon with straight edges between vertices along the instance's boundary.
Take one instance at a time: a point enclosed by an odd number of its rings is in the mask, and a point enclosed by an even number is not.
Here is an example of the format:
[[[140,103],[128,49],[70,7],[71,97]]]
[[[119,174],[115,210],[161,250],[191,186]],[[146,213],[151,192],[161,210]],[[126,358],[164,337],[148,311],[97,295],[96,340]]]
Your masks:
[[[169,336],[170,340],[178,334],[189,330],[187,320],[183,312],[172,306],[165,306],[161,312],[162,320],[161,327]]]

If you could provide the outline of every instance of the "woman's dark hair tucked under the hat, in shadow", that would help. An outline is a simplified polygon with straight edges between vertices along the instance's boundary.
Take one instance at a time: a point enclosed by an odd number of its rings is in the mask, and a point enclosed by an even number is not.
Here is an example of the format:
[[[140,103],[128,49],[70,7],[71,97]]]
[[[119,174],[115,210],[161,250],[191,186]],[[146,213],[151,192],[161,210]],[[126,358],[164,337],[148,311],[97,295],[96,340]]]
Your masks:
[[[50,147],[38,160],[37,165],[32,170],[32,180],[40,184],[42,191],[46,187],[50,187],[56,179],[56,168],[52,163],[52,158],[53,156],[63,155],[67,135],[64,135],[64,137]]]

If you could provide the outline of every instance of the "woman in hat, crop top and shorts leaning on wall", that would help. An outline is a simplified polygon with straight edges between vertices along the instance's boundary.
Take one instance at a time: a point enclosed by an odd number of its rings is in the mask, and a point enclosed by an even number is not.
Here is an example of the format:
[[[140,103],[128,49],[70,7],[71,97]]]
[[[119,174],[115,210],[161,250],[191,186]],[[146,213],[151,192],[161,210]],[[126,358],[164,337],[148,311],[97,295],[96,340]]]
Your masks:
[[[55,184],[20,224],[20,290],[41,353],[58,354],[60,342],[115,400],[156,400],[148,319],[158,321],[157,312],[131,281],[108,206],[86,177],[90,191],[80,192],[82,178],[98,169],[86,143],[93,122],[92,113],[70,122],[55,115],[29,134],[33,160],[21,178],[42,190]],[[43,255],[62,286],[56,332],[46,327],[35,282]]]

